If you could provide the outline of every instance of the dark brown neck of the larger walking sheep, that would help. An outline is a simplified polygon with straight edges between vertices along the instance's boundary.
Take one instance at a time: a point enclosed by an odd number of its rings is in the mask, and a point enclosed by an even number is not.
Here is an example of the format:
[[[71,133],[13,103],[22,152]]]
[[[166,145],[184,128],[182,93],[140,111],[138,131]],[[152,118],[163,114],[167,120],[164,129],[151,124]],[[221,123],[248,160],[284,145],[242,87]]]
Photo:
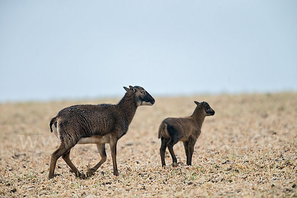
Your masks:
[[[125,96],[119,101],[117,106],[122,112],[126,123],[130,125],[137,109],[134,94],[130,91],[126,92]]]

